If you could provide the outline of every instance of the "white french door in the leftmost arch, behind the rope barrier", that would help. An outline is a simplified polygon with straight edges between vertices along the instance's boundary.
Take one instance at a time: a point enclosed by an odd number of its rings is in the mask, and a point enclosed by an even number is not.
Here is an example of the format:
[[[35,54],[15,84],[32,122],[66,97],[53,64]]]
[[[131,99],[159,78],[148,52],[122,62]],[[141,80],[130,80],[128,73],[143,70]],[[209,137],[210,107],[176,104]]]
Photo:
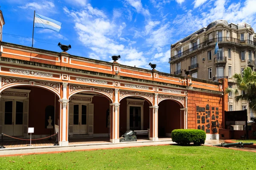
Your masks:
[[[23,101],[4,101],[3,133],[9,136],[23,135]]]

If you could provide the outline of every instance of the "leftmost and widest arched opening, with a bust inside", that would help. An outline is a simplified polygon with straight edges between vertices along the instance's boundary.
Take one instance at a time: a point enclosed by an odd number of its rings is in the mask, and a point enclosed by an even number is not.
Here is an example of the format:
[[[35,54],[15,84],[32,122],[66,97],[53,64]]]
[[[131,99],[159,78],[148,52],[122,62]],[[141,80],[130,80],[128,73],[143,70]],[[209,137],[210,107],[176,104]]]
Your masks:
[[[1,133],[28,138],[28,127],[34,127],[33,139],[54,133],[59,119],[58,94],[44,87],[17,85],[1,89],[0,95]]]

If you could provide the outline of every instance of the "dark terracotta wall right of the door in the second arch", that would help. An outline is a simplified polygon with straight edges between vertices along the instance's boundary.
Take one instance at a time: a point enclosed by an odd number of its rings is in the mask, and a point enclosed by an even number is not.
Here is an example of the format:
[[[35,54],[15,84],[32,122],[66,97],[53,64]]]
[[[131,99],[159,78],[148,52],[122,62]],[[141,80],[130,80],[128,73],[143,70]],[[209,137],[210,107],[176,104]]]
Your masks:
[[[94,96],[94,115],[93,115],[93,133],[108,133],[107,110],[109,109],[109,100],[104,96]]]

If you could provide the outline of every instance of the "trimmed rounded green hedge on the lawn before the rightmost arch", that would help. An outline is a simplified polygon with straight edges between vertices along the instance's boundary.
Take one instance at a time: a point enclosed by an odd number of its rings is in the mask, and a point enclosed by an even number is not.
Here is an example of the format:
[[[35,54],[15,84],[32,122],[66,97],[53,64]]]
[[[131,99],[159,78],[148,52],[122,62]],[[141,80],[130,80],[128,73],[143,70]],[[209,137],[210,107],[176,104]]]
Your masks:
[[[188,145],[193,142],[195,145],[204,144],[206,133],[198,129],[175,129],[172,130],[172,141],[181,145]]]

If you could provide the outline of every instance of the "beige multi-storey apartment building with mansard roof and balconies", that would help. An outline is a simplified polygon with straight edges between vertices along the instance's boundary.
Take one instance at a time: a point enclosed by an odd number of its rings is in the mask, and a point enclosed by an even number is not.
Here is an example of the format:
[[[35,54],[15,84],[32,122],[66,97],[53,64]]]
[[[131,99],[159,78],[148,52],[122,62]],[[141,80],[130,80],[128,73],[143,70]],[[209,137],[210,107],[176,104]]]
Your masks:
[[[218,53],[214,48],[218,41]],[[244,68],[256,71],[255,54],[256,33],[248,23],[228,23],[216,20],[207,27],[171,45],[170,72],[176,75],[189,74],[193,78],[217,81],[228,79],[230,88],[235,88],[232,76],[241,74]],[[242,92],[241,92],[242,93]],[[235,101],[235,95],[229,94],[229,111],[248,108],[246,101]],[[248,111],[248,119],[255,113]]]

